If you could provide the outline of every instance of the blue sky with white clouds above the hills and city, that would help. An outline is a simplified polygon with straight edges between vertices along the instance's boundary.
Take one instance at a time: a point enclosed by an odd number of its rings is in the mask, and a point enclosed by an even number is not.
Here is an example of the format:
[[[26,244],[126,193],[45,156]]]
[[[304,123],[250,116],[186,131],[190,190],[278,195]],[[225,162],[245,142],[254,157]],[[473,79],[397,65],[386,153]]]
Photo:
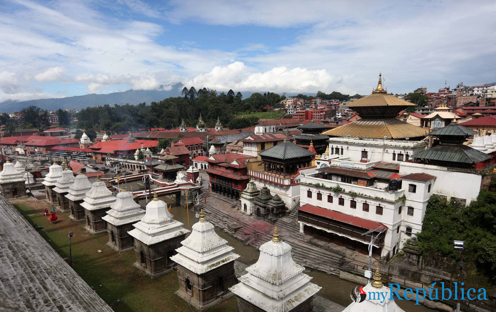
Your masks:
[[[495,16],[496,1],[0,0],[0,102],[177,82],[368,95],[379,71],[393,93],[492,83]]]

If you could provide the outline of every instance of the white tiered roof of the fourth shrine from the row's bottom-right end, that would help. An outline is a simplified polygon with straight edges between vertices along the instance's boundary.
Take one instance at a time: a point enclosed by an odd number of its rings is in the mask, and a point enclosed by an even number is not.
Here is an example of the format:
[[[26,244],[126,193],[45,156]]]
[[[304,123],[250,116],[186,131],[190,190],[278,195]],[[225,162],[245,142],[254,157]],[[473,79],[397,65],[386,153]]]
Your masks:
[[[154,245],[184,235],[189,231],[183,227],[183,223],[174,220],[167,209],[164,201],[154,195],[153,201],[146,205],[146,213],[141,221],[134,224],[134,229],[128,233],[135,240],[145,245]]]

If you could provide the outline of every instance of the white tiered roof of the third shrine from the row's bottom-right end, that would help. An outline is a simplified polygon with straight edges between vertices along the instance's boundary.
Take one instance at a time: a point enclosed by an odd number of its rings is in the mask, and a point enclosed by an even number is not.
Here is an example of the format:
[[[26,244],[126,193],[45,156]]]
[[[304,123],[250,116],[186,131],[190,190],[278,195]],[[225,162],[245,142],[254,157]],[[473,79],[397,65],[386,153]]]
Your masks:
[[[227,245],[227,241],[215,233],[213,224],[207,222],[203,210],[200,210],[199,222],[193,224],[191,234],[181,245],[171,260],[197,275],[240,257],[232,252],[234,247]]]

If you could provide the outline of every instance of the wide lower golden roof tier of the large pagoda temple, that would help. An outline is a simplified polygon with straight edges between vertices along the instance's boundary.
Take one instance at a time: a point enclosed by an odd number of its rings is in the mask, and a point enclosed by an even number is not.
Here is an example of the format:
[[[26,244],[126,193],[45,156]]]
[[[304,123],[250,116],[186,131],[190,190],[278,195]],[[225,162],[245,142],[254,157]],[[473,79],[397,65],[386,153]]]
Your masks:
[[[424,137],[427,130],[398,119],[360,119],[328,130],[323,134],[335,137],[404,139]]]

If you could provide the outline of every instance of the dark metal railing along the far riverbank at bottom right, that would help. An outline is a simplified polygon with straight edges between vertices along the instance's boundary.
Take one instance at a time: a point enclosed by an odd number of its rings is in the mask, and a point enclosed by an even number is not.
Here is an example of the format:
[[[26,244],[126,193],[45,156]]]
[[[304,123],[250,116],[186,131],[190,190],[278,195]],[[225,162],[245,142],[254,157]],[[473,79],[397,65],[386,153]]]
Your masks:
[[[368,269],[368,266],[365,266],[363,264],[358,264],[358,263],[354,263],[354,262],[351,262],[351,261],[348,261],[345,259],[345,257],[342,257],[340,260],[339,260],[339,268],[342,269],[343,271],[347,271],[347,272],[350,272],[350,273],[356,273],[356,274],[359,274],[361,276],[364,276],[365,274],[365,271]],[[372,270],[373,271],[373,270]],[[432,287],[431,285],[426,285],[424,284],[423,282],[419,282],[419,281],[414,281],[414,280],[411,280],[411,279],[408,279],[404,276],[398,276],[398,275],[394,275],[394,274],[390,274],[388,272],[385,272],[385,271],[382,271],[379,269],[379,272],[380,272],[380,275],[381,275],[381,278],[382,278],[382,282],[385,283],[385,284],[389,284],[389,283],[395,283],[395,284],[398,284],[398,285],[401,285],[403,287],[406,287],[406,288],[422,288],[426,291],[426,298],[428,298],[429,296],[429,290],[434,291],[434,287]],[[446,284],[446,286],[449,285],[449,289],[451,290],[451,292],[453,292],[453,287],[451,287],[452,283],[449,282],[448,284]],[[465,289],[468,289],[469,287],[467,285],[464,285]],[[448,287],[446,287],[448,288]],[[473,288],[476,288],[477,287],[473,287]],[[438,292],[439,292],[439,289],[438,289]],[[456,306],[456,303],[459,302],[460,303],[460,307],[463,311],[469,311],[469,312],[496,312],[496,309],[495,308],[492,308],[490,306],[485,306],[485,305],[482,305],[476,301],[470,301],[470,300],[453,300],[453,299],[450,299],[450,300],[442,300],[442,299],[439,299],[439,300],[435,300],[435,301],[439,301],[439,302],[442,302],[444,303],[445,305],[448,305],[448,306],[451,306],[451,307],[454,307]]]

